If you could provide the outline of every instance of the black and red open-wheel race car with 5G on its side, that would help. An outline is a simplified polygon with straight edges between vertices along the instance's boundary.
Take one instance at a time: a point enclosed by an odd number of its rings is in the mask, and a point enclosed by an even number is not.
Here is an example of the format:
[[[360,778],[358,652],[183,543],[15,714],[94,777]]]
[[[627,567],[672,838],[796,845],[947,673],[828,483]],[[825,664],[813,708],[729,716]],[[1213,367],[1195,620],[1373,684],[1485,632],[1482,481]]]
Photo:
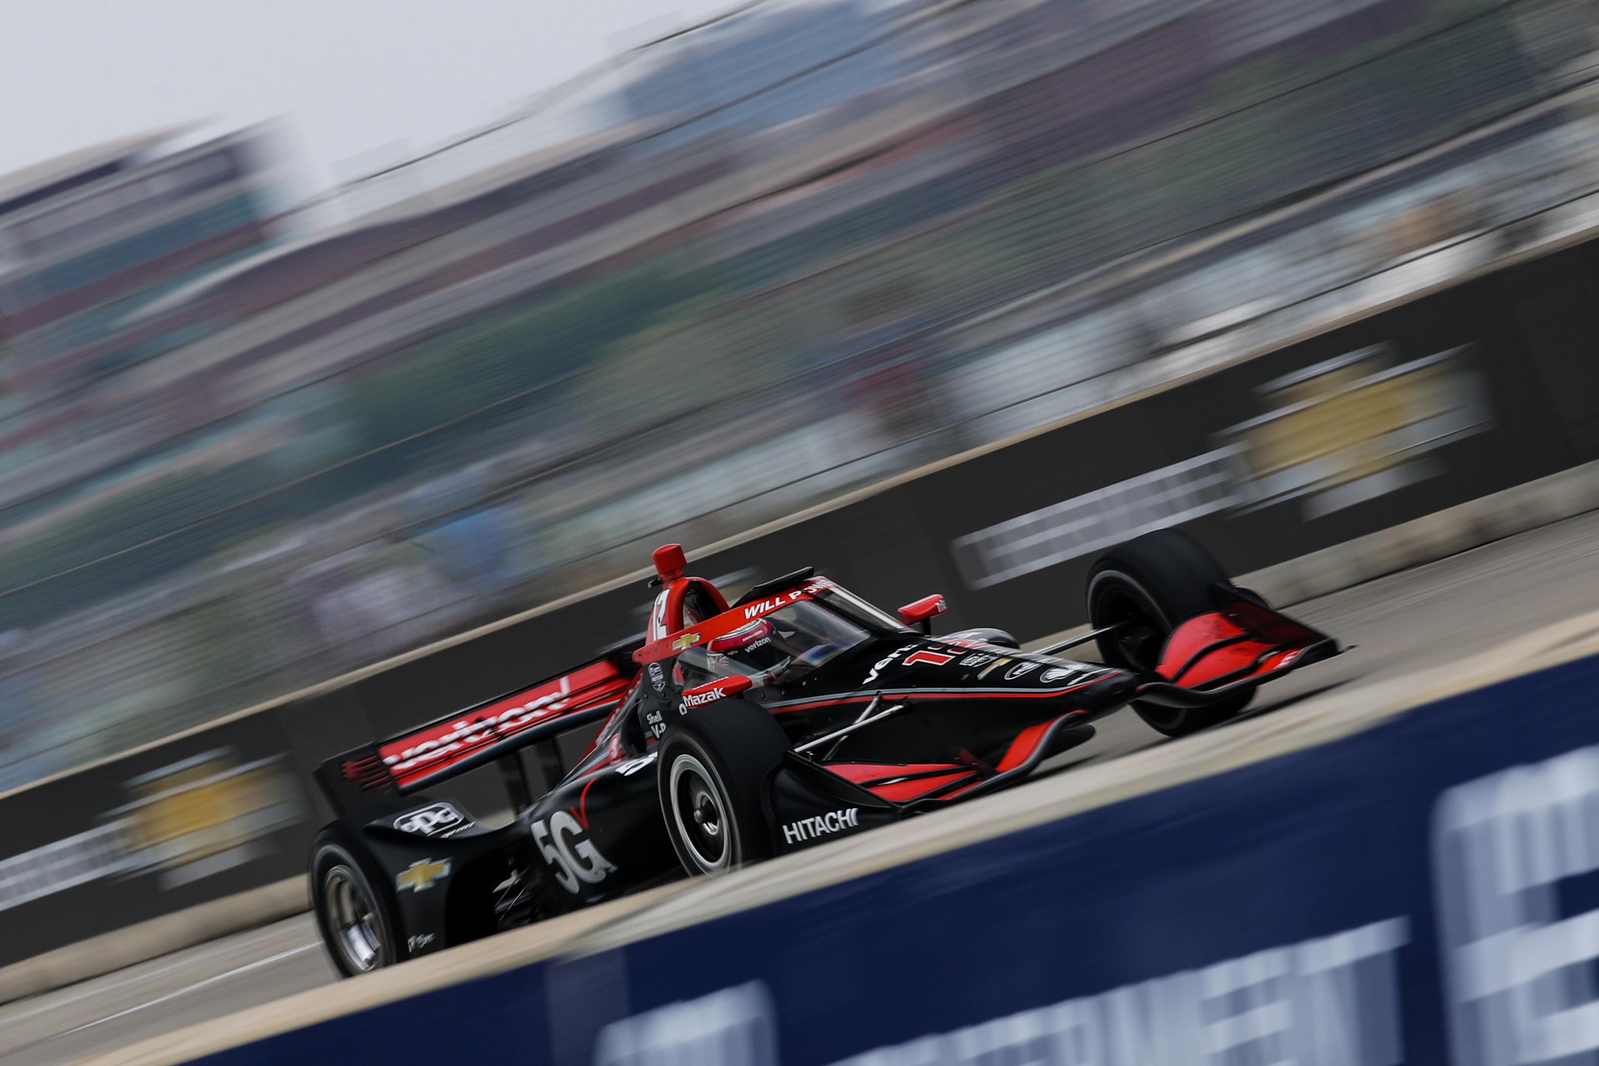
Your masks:
[[[654,563],[644,634],[317,769],[337,818],[312,845],[312,901],[341,973],[983,796],[1121,706],[1191,734],[1338,652],[1177,531],[1099,559],[1091,631],[1038,652],[999,630],[932,636],[940,596],[895,617],[803,569],[729,604],[680,547]],[[1087,642],[1102,663],[1057,657]],[[556,737],[596,726],[534,798],[523,750],[560,767]],[[425,794],[486,762],[505,825]]]

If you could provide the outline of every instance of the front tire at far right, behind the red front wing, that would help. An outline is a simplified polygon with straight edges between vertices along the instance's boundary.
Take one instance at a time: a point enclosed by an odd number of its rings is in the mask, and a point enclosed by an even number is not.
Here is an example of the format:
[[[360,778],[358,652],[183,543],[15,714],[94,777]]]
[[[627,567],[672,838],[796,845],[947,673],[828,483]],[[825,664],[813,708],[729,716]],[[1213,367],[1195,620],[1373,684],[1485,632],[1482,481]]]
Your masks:
[[[1215,609],[1212,585],[1233,587],[1233,582],[1215,556],[1180,529],[1156,529],[1111,548],[1089,569],[1087,583],[1092,626],[1121,626],[1099,638],[1102,658],[1122,670],[1153,673],[1172,631]],[[1185,737],[1236,716],[1254,695],[1249,689],[1210,706],[1190,708],[1134,700],[1132,710],[1156,732]]]

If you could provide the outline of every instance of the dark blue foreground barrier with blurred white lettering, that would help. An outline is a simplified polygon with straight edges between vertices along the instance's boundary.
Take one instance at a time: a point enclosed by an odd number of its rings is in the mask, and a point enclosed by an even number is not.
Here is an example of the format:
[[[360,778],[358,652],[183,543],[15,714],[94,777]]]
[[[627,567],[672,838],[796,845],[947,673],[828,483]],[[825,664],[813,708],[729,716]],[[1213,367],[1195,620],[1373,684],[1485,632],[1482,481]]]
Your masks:
[[[1591,1061],[1596,690],[1567,663],[206,1061]]]

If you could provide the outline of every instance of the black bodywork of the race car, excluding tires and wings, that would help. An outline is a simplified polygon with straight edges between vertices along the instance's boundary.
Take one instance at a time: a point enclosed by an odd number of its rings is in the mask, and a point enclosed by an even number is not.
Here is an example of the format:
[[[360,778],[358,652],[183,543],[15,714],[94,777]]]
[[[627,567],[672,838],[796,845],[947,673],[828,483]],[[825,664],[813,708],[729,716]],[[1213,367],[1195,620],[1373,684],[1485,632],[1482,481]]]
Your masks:
[[[750,590],[721,617],[772,615],[785,596],[835,612],[867,638],[814,670],[758,678],[726,697],[694,697],[699,687],[684,657],[696,646],[651,658],[664,642],[640,638],[587,665],[614,670],[616,694],[504,740],[491,737],[421,783],[400,783],[382,743],[318,767],[318,783],[339,812],[336,826],[369,849],[374,879],[393,893],[398,957],[683,877],[657,796],[656,746],[672,721],[694,713],[694,698],[763,708],[796,748],[785,753],[768,793],[776,852],[785,853],[1014,783],[1091,737],[1094,719],[1134,697],[1180,702],[1226,689],[1196,694],[1161,678],[1027,654],[998,630],[934,638],[809,571]],[[712,623],[702,628],[708,633]],[[1300,665],[1335,650],[1314,636],[1324,644]],[[470,722],[478,710],[438,721]],[[871,721],[814,743],[863,719]],[[547,766],[558,764],[556,735],[595,726],[588,751],[560,785],[534,798],[523,751],[534,748]],[[515,810],[507,825],[480,825],[454,801],[430,794],[445,778],[489,761],[505,774]]]

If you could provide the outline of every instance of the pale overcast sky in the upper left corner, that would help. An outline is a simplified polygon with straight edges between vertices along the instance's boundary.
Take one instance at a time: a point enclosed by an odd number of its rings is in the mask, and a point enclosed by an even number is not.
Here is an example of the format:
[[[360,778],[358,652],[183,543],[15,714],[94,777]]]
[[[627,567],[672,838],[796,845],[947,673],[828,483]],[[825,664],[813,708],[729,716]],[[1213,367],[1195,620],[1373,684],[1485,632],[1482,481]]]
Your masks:
[[[3,0],[0,174],[157,126],[286,120],[309,187],[489,121],[737,0]],[[345,161],[345,166],[339,166]]]

